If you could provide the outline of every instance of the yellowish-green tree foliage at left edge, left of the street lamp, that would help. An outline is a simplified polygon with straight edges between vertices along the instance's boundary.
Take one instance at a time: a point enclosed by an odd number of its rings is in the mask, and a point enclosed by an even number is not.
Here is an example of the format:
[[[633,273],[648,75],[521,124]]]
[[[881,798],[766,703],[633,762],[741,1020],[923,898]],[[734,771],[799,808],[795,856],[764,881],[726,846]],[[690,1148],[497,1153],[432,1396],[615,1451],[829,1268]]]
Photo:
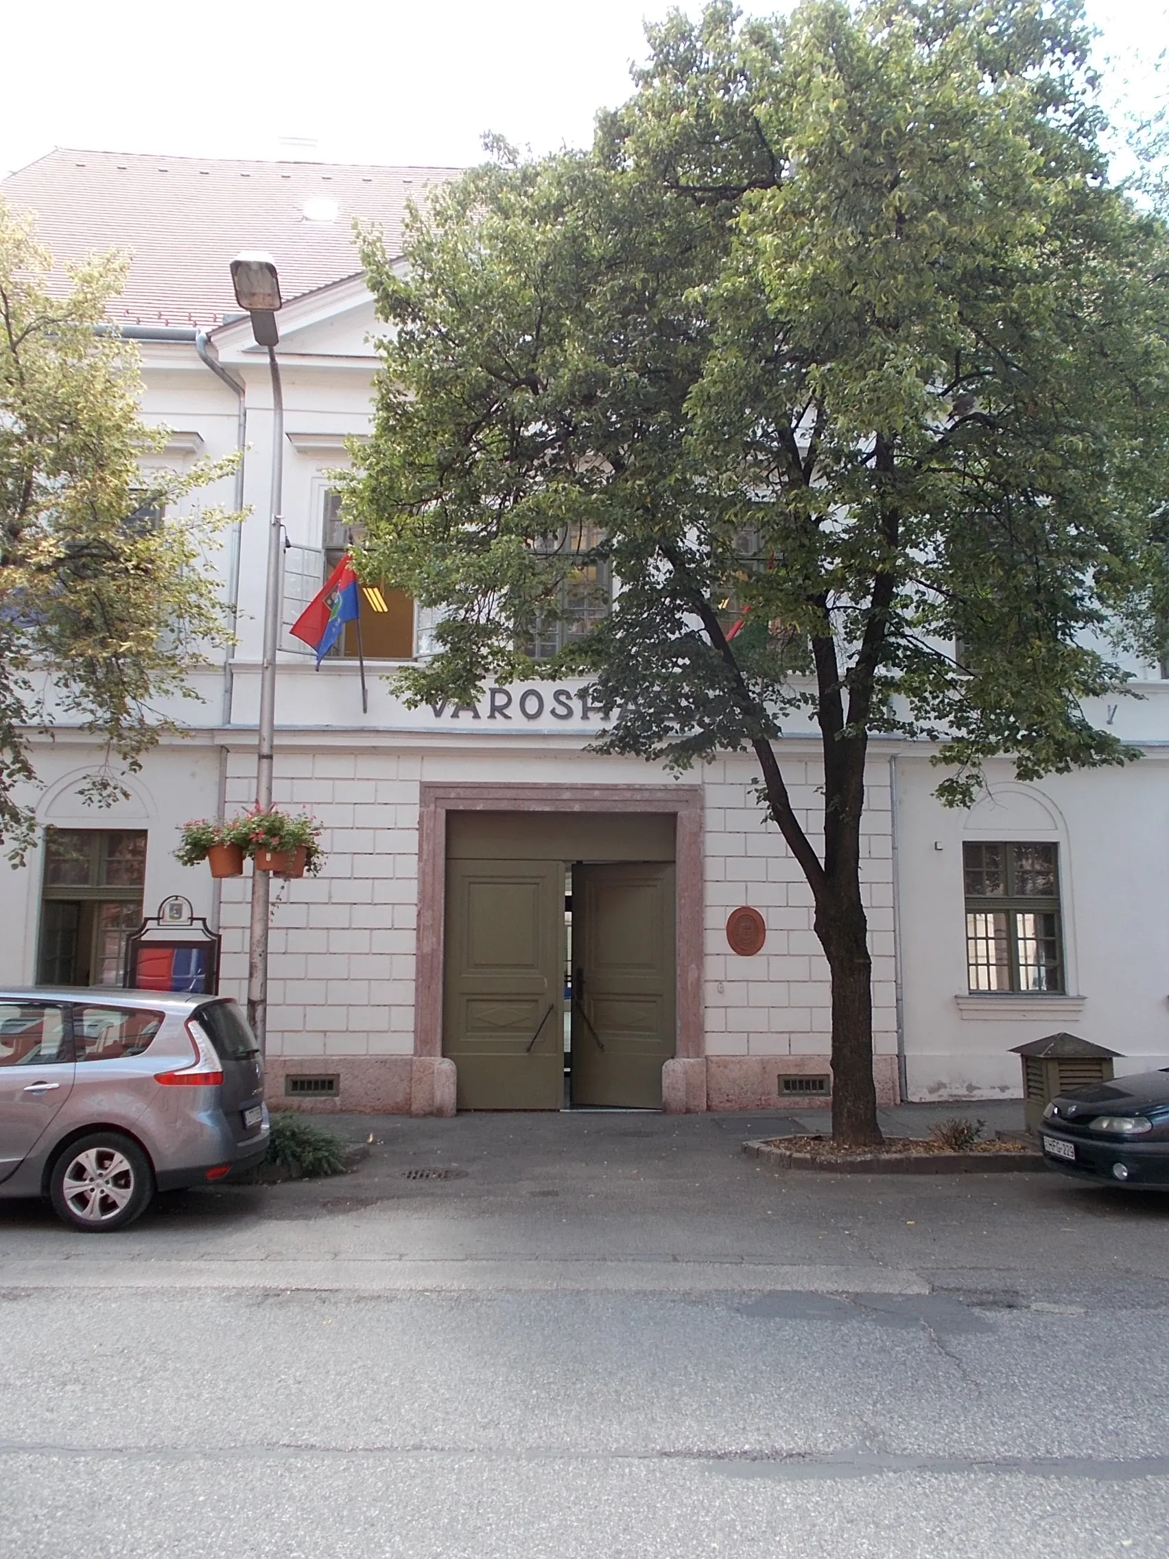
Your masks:
[[[139,416],[137,357],[104,323],[125,260],[95,256],[50,295],[50,256],[0,203],[0,842],[33,842],[30,739],[81,726],[103,748],[87,800],[120,794],[165,730],[156,702],[192,697],[187,672],[224,616],[206,567],[221,516],[167,518],[223,474],[178,474],[143,457],[165,429]]]

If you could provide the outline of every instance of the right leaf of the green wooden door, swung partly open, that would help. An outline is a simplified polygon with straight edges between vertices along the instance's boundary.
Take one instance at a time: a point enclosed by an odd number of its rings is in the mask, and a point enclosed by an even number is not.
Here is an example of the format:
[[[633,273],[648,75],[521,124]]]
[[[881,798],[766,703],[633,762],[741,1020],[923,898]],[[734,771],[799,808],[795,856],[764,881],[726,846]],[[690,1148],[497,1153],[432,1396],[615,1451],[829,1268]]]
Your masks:
[[[574,865],[574,1104],[661,1108],[673,959],[673,864]]]

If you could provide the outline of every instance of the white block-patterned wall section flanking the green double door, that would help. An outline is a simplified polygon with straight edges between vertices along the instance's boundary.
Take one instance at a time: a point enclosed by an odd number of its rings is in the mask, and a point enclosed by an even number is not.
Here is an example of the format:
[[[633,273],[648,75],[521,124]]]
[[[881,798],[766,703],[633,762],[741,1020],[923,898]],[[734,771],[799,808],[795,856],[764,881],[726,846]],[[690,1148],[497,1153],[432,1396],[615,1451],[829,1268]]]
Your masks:
[[[318,879],[279,895],[271,932],[268,1035],[277,1055],[408,1055],[413,1051],[418,803],[422,780],[483,784],[661,784],[661,770],[595,758],[580,741],[560,750],[516,733],[488,747],[471,736],[408,739],[346,750],[337,737],[316,751],[279,753],[277,801],[304,806],[326,825],[329,859]],[[457,742],[457,745],[455,745]],[[500,750],[502,748],[502,750]],[[811,753],[787,765],[796,806],[814,814]],[[812,769],[812,776],[815,770]],[[705,993],[709,1055],[826,1057],[831,1035],[828,968],[812,932],[811,893],[779,831],[750,795],[747,759],[729,758],[687,776],[701,783],[705,814]],[[254,794],[254,759],[232,755],[228,804]],[[865,829],[865,900],[873,928],[876,1043],[896,1051],[888,790],[874,787]],[[198,868],[196,868],[198,870]],[[224,884],[224,982],[246,985],[246,878]],[[726,943],[731,909],[751,904],[767,943],[739,957]],[[226,984],[224,984],[224,988]]]

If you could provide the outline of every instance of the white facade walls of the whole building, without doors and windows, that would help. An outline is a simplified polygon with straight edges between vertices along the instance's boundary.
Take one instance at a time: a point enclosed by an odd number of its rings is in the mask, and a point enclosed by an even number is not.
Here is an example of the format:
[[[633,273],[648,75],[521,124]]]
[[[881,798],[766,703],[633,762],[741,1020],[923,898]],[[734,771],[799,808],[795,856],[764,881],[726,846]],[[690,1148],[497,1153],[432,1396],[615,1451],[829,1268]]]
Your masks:
[[[332,312],[330,312],[332,310]],[[285,393],[284,518],[298,546],[321,544],[327,471],[341,465],[338,440],[369,427],[376,359],[365,335],[373,309],[360,287],[304,299],[281,316]],[[147,907],[173,892],[198,914],[214,912],[206,867],[182,868],[170,851],[176,828],[217,809],[220,758],[228,750],[228,806],[254,795],[254,726],[271,463],[267,359],[246,323],[217,332],[223,363],[246,387],[245,504],[240,549],[238,649],[234,694],[224,708],[223,667],[195,673],[203,703],[175,700],[171,714],[196,728],[167,742],[129,781],[132,798],[111,811],[84,808],[76,781],[101,755],[62,733],[37,742],[45,789],[42,823],[145,826]],[[193,346],[143,346],[143,412],[184,435],[201,454],[229,454],[237,441],[237,398],[200,363]],[[187,440],[190,443],[190,438]],[[192,455],[173,454],[178,463]],[[189,502],[231,507],[226,477]],[[229,536],[217,560],[226,582]],[[380,667],[385,670],[385,667]],[[1139,669],[1138,669],[1139,670]],[[270,1040],[276,1057],[407,1057],[413,1051],[415,918],[418,907],[418,798],[424,780],[522,784],[661,784],[636,759],[581,751],[595,717],[574,705],[553,717],[550,689],[530,719],[475,720],[469,711],[405,711],[371,667],[362,712],[355,667],[282,655],[277,691],[276,798],[305,806],[326,825],[324,875],[281,889],[273,915]],[[876,1051],[888,1076],[898,1052],[898,976],[906,1074],[912,1098],[994,1098],[1019,1091],[1010,1046],[1069,1029],[1121,1051],[1122,1069],[1169,1063],[1169,683],[1147,680],[1143,700],[1105,698],[1090,716],[1147,756],[1127,769],[1054,776],[1016,786],[1012,767],[990,769],[991,795],[971,814],[941,808],[938,772],[904,742],[874,742],[865,814],[864,893],[874,959]],[[514,692],[514,691],[513,691]],[[516,692],[517,697],[517,692]],[[781,761],[812,836],[823,797],[818,751],[806,726],[782,739]],[[787,1059],[812,1065],[829,1048],[828,971],[812,932],[811,892],[778,831],[751,794],[747,756],[720,759],[687,776],[705,790],[705,1027],[706,1052],[748,1063],[756,1077]],[[1051,839],[1060,845],[1066,996],[982,998],[966,993],[962,840]],[[224,988],[243,995],[248,879],[221,895]],[[36,973],[41,901],[39,853],[9,871],[0,895],[0,977]],[[767,945],[737,957],[725,923],[739,904],[758,907]],[[895,929],[899,959],[895,956]],[[726,1069],[726,1077],[734,1068]],[[754,1087],[754,1084],[750,1084]],[[748,1084],[743,1082],[743,1088]],[[750,1090],[748,1090],[750,1091]]]

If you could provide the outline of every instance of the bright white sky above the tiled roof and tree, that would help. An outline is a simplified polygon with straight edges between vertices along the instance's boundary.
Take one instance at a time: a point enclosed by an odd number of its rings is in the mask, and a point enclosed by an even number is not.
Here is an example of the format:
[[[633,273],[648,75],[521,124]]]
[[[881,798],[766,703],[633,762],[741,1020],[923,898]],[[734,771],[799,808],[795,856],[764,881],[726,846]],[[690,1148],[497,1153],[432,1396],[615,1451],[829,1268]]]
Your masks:
[[[1116,97],[1147,101],[1169,0],[1088,0]],[[747,0],[767,14],[781,6]],[[630,92],[642,17],[669,0],[30,0],[6,14],[0,173],[55,145],[466,164],[486,129],[547,151],[588,142]],[[684,6],[697,14],[698,0]],[[1144,56],[1144,64],[1133,55]],[[1125,87],[1124,83],[1128,83]],[[290,153],[284,153],[288,156]]]

